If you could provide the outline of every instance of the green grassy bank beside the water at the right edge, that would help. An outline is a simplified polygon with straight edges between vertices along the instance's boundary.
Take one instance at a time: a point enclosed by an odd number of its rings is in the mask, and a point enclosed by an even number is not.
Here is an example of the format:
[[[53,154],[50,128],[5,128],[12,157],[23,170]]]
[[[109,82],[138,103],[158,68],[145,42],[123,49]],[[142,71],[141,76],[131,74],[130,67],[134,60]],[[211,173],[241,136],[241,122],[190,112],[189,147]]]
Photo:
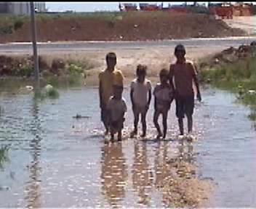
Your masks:
[[[238,101],[242,104],[252,109],[256,107],[256,94],[249,93],[249,90],[256,91],[256,57],[202,70],[200,78],[203,82],[209,81],[217,88],[237,94]],[[255,118],[254,114],[249,118]]]

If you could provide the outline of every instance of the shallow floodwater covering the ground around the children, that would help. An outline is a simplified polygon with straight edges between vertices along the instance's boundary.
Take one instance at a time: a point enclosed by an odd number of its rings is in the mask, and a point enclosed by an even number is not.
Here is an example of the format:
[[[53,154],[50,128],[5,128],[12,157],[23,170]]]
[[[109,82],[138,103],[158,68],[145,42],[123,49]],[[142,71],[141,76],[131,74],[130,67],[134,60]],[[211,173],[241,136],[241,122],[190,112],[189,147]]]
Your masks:
[[[32,93],[1,92],[0,147],[9,146],[0,166],[1,208],[168,206],[158,186],[168,176],[168,160],[181,155],[197,166],[199,179],[215,186],[206,206],[256,207],[255,126],[233,94],[204,89],[194,115],[198,140],[180,144],[174,103],[170,140],[153,140],[153,103],[148,140],[127,139],[132,110],[125,89],[125,139],[105,144],[97,92],[61,89],[59,99],[44,101]],[[76,120],[77,113],[89,118]]]

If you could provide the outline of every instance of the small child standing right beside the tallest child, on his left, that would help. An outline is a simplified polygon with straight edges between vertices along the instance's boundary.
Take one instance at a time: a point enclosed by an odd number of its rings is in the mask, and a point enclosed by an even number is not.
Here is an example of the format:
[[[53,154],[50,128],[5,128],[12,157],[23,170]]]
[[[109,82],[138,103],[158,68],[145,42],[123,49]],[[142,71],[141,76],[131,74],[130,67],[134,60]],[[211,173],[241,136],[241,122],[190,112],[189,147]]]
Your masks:
[[[156,84],[155,89],[153,90],[153,95],[155,97],[155,112],[153,114],[153,123],[156,126],[158,135],[157,139],[160,139],[167,136],[167,115],[169,108],[171,107],[172,100],[174,99],[173,89],[169,85],[169,71],[167,69],[162,69],[159,73],[160,83]],[[159,115],[162,115],[163,119],[163,132],[159,127]]]

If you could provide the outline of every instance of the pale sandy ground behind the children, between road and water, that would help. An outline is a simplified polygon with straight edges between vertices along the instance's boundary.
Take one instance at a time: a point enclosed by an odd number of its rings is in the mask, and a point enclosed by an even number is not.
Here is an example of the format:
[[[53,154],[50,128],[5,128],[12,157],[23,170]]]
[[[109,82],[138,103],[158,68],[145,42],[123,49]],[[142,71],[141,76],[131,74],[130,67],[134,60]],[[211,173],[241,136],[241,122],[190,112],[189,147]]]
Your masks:
[[[187,59],[196,62],[209,54],[215,54],[225,49],[225,46],[187,47]],[[91,63],[94,68],[87,71],[87,85],[97,85],[97,75],[100,70],[105,69],[105,54],[116,52],[116,68],[121,70],[125,76],[125,84],[135,77],[135,69],[138,64],[148,65],[148,77],[153,81],[158,79],[158,73],[163,67],[169,68],[169,63],[175,61],[174,47],[153,46],[144,49],[102,49],[89,52],[63,52],[44,54],[44,59],[51,62],[54,58],[79,60]]]

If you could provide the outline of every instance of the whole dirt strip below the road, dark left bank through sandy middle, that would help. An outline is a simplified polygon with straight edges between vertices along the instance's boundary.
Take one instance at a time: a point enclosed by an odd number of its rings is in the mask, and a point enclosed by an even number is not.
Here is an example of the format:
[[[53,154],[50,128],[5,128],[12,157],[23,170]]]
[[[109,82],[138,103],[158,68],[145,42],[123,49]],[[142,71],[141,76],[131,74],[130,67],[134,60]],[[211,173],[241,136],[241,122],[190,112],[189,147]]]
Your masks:
[[[188,60],[196,62],[206,55],[215,54],[225,49],[223,46],[208,48],[188,47]],[[41,75],[66,74],[67,69],[72,68],[71,63],[85,71],[88,85],[98,84],[98,73],[105,69],[105,54],[108,49],[92,50],[88,52],[52,52],[39,55],[39,69]],[[159,81],[159,71],[165,67],[169,69],[169,63],[175,61],[174,46],[152,46],[145,49],[116,49],[116,68],[124,73],[127,85],[135,78],[136,67],[139,64],[148,66],[148,78],[152,82]],[[55,62],[55,63],[54,63]],[[64,64],[64,65],[63,65]],[[76,68],[76,67],[73,67]],[[74,69],[76,70],[76,69]],[[27,54],[0,55],[0,77],[31,77],[33,75],[33,57]]]

